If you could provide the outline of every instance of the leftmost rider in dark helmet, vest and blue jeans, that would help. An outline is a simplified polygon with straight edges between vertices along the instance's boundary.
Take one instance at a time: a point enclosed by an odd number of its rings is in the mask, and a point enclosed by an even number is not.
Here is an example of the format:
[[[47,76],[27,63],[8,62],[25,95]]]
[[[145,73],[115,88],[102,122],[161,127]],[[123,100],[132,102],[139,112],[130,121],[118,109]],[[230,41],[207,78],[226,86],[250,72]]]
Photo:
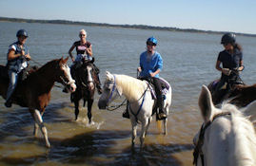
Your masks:
[[[20,29],[17,31],[16,37],[18,41],[9,46],[7,56],[7,67],[10,78],[7,100],[5,102],[7,107],[11,106],[11,95],[18,83],[18,74],[28,66],[28,61],[30,61],[30,52],[25,45],[29,37],[28,32],[25,29]]]

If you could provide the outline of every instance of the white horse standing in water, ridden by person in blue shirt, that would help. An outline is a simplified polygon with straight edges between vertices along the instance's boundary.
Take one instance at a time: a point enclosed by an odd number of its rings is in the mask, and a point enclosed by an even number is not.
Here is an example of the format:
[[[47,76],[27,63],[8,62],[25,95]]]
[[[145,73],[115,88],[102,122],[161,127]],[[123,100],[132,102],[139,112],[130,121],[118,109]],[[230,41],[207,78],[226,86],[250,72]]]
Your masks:
[[[129,102],[128,114],[132,126],[131,145],[134,147],[137,134],[137,124],[142,124],[140,147],[142,149],[144,139],[148,132],[150,121],[152,120],[155,100],[152,98],[150,85],[146,81],[141,81],[127,75],[117,75],[106,72],[106,82],[104,90],[98,102],[100,109],[106,109],[111,101],[124,95]],[[171,87],[167,90],[164,101],[164,111],[168,114],[171,104]],[[167,134],[167,119],[164,121],[164,134]]]

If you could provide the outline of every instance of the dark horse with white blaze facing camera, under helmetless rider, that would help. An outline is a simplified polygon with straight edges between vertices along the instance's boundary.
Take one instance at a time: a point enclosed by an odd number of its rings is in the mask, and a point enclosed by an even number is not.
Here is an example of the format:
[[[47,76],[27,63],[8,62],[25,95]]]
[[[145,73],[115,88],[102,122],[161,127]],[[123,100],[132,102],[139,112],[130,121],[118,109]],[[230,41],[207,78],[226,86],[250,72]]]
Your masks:
[[[75,120],[78,118],[79,114],[79,101],[84,100],[84,106],[86,101],[88,101],[88,118],[89,123],[91,122],[91,107],[94,101],[95,92],[95,77],[96,73],[93,67],[93,61],[81,62],[81,64],[76,64],[73,67],[73,78],[75,79],[77,89],[75,92],[71,93],[70,100],[74,102],[75,105]]]

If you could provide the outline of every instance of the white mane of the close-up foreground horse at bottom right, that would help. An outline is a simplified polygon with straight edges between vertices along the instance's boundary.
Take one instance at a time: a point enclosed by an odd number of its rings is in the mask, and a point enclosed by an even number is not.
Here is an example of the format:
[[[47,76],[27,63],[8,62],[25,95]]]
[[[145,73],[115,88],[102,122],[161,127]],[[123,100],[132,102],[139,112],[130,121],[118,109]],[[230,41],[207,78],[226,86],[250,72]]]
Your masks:
[[[256,163],[256,134],[254,126],[234,105],[225,103],[223,112],[231,113],[230,165],[254,165]],[[234,159],[236,158],[236,159]]]

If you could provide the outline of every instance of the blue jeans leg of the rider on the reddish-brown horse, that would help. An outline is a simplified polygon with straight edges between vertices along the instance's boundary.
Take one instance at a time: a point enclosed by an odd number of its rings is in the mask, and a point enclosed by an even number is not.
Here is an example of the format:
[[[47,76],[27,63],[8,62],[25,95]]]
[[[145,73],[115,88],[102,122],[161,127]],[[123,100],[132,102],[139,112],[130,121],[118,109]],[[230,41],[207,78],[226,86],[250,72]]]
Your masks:
[[[10,101],[10,97],[18,83],[18,73],[14,72],[12,70],[9,70],[8,74],[9,74],[10,83],[9,83],[9,87],[7,90],[7,100],[6,101]]]

